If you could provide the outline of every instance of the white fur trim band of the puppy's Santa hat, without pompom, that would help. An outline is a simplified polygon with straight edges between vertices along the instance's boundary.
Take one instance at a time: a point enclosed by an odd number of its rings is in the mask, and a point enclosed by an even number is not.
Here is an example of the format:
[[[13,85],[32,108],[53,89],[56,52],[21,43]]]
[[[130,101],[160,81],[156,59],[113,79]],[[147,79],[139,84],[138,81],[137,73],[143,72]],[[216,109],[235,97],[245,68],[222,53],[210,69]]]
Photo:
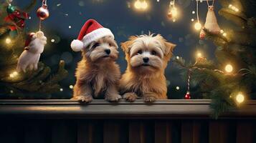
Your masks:
[[[82,38],[84,47],[88,46],[93,41],[103,38],[103,36],[112,36],[113,39],[115,38],[113,33],[110,31],[110,29],[107,29],[107,28],[96,29]]]

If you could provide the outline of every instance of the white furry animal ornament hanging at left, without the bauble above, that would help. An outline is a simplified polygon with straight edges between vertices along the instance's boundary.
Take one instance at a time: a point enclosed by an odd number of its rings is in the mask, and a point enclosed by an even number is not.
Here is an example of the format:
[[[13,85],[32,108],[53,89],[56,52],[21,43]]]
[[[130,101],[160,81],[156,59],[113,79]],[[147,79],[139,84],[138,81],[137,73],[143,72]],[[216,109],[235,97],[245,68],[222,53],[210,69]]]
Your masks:
[[[29,68],[30,70],[37,70],[37,64],[40,55],[44,51],[44,45],[47,44],[47,37],[44,36],[42,31],[29,34],[29,41],[26,42],[24,51],[19,56],[19,61],[16,70],[24,71]]]

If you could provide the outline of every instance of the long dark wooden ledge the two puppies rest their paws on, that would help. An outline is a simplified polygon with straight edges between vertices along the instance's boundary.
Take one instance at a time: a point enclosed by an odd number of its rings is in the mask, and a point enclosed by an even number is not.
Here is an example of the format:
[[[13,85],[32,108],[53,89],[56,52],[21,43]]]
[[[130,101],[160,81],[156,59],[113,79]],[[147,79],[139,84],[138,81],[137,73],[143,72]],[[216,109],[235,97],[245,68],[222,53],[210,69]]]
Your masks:
[[[118,104],[95,99],[90,104],[80,104],[69,99],[0,100],[1,118],[29,119],[210,119],[209,99],[166,99],[145,104],[139,99]],[[256,118],[256,101],[249,100],[240,109],[223,114],[220,118]]]

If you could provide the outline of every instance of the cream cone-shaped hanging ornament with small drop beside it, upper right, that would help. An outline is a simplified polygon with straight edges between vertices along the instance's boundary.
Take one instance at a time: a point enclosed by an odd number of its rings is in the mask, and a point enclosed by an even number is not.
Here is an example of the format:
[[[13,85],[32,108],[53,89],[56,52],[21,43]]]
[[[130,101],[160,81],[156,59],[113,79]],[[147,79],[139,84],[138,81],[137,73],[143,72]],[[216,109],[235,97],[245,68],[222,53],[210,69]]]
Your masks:
[[[208,12],[207,12],[207,18],[204,24],[204,29],[207,29],[212,34],[219,34],[221,29],[219,28],[219,24],[217,23],[217,18],[214,14],[214,0],[212,1],[212,5],[209,5],[209,1],[207,0],[207,5],[208,5]],[[205,37],[204,29],[200,31],[200,39],[204,39]]]

